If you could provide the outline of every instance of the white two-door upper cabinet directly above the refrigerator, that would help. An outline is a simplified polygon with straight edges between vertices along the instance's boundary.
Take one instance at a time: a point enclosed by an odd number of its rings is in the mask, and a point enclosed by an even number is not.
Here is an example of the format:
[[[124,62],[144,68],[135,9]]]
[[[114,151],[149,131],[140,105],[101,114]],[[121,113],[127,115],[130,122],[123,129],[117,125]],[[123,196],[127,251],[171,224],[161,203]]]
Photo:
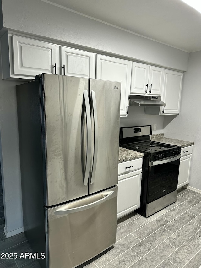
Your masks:
[[[34,79],[64,74],[95,78],[95,54],[5,33],[1,37],[2,77]]]

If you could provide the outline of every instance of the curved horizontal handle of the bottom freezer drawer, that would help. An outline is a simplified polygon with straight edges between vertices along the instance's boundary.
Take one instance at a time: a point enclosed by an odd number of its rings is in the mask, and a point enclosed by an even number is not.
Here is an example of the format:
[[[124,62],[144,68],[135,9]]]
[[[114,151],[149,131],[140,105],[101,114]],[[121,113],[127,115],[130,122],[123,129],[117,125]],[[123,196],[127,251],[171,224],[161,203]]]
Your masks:
[[[106,200],[109,200],[111,199],[112,197],[112,194],[114,193],[115,191],[110,191],[110,192],[105,192],[105,193],[101,193],[99,194],[100,196],[100,199],[97,200],[97,196],[90,196],[90,197],[87,197],[87,199],[89,200],[89,202],[92,200],[96,200],[92,203],[89,203],[89,204],[86,204],[86,199],[83,200],[84,204],[85,205],[82,205],[82,206],[78,206],[76,207],[76,204],[80,204],[81,202],[80,201],[77,201],[77,202],[74,202],[74,205],[75,207],[71,207],[71,208],[68,208],[68,205],[66,209],[58,209],[58,210],[55,210],[54,211],[54,214],[55,215],[67,215],[69,213],[75,213],[75,212],[79,212],[79,211],[84,211],[86,209],[90,209],[90,208],[93,208],[97,205],[100,205],[101,203],[105,202]],[[72,206],[72,204],[71,204]]]

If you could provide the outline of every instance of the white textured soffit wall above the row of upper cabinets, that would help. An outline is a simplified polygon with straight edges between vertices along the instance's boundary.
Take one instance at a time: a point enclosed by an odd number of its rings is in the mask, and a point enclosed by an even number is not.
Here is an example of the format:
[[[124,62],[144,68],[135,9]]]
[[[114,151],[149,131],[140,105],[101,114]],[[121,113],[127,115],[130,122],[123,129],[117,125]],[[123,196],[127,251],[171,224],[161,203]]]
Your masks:
[[[90,49],[187,70],[188,53],[40,0],[2,0],[3,26]]]

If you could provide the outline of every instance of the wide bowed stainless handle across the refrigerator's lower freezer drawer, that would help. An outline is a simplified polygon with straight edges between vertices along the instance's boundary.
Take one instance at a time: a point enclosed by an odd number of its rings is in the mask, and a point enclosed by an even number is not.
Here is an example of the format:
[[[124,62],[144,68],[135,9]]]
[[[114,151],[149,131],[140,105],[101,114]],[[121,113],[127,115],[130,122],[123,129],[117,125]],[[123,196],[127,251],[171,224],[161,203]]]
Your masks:
[[[84,211],[86,209],[93,208],[101,203],[112,198],[115,191],[107,191],[104,193],[96,194],[95,196],[90,196],[84,198],[84,200],[78,200],[73,202],[73,204],[65,205],[66,208],[57,209],[54,211],[55,215],[67,215],[69,213],[75,213],[79,211]],[[78,205],[78,206],[77,206]]]

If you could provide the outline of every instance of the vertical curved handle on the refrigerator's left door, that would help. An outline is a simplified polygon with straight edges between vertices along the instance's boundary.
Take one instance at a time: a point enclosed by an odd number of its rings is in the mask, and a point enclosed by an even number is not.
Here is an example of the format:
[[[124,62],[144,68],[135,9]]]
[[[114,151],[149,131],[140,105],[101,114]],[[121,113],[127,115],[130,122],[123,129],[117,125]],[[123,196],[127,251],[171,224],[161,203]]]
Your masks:
[[[86,148],[86,162],[84,166],[84,112],[86,114],[86,127],[87,127],[87,148]],[[90,161],[91,161],[91,118],[90,118],[90,104],[88,90],[84,90],[84,98],[82,105],[82,117],[81,117],[81,161],[83,171],[83,182],[84,185],[88,184],[89,172],[90,172]]]

